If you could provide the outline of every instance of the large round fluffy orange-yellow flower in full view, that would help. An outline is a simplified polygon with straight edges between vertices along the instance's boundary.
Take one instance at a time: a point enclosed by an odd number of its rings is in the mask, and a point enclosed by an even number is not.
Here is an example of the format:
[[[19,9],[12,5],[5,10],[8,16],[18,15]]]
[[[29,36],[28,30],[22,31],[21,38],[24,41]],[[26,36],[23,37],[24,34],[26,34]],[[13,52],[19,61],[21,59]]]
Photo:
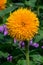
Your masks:
[[[17,40],[31,40],[38,31],[39,21],[33,12],[20,8],[7,19],[8,33]]]

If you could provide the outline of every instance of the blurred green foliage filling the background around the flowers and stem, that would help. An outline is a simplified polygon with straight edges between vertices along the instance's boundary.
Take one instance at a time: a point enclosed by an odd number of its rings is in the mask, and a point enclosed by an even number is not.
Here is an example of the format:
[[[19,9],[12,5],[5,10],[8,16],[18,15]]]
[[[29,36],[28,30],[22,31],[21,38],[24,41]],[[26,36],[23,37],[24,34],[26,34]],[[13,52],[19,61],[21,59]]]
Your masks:
[[[29,48],[30,65],[43,65],[43,0],[8,0],[6,8],[0,10],[0,25],[7,22],[7,18],[11,12],[20,7],[30,8],[39,18],[39,31],[33,38],[33,42],[39,43],[39,48]],[[7,62],[9,54],[13,57],[12,62]],[[4,59],[5,60],[4,60]],[[25,48],[19,47],[19,42],[14,43],[14,40],[9,36],[4,36],[4,32],[0,32],[0,65],[26,65]]]

